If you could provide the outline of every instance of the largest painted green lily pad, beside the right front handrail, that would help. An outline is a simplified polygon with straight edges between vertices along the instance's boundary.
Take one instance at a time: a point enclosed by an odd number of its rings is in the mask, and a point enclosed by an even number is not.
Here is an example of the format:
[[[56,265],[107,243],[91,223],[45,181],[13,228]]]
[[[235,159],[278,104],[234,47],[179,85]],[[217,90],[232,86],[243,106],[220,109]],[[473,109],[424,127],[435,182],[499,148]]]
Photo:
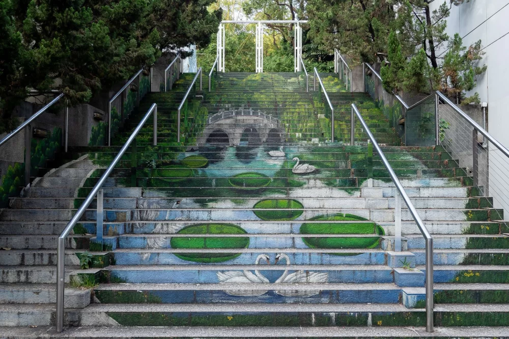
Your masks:
[[[373,249],[380,243],[380,235],[384,230],[376,223],[360,223],[366,219],[354,214],[338,213],[334,215],[318,215],[309,221],[331,221],[331,223],[303,223],[301,234],[373,234],[373,237],[303,237],[302,240],[310,248],[317,249]],[[332,221],[351,221],[351,223],[332,223]],[[356,222],[357,221],[357,222]]]

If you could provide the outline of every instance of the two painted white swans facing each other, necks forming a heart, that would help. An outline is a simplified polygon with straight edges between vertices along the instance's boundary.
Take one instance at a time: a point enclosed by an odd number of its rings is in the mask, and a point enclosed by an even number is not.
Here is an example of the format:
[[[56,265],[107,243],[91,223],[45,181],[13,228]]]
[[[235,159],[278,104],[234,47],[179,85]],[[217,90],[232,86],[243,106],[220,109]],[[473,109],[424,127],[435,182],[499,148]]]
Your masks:
[[[259,255],[254,264],[259,265],[262,259],[270,265],[269,256],[266,254]],[[287,265],[291,264],[290,257],[284,253],[279,253],[276,256],[275,264],[281,259],[285,259]],[[275,281],[275,284],[327,283],[328,275],[329,273],[305,272],[303,270],[290,273],[286,269]],[[254,270],[254,273],[248,270],[217,272],[217,278],[221,284],[269,284],[269,280],[259,270]],[[224,292],[235,296],[260,296],[267,293],[267,290],[225,290]],[[309,297],[320,293],[319,290],[275,290],[274,292],[286,297]]]

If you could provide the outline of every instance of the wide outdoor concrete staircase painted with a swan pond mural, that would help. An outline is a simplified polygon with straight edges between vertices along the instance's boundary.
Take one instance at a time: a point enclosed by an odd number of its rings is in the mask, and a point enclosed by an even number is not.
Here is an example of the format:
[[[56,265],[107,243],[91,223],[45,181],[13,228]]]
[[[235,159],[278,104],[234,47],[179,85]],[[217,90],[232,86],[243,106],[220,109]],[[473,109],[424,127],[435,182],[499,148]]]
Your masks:
[[[137,170],[129,150],[108,179],[103,248],[95,201],[68,239],[65,335],[424,337],[424,241],[403,208],[404,252],[391,252],[395,188],[371,147],[345,144],[352,102],[433,234],[437,333],[509,332],[503,211],[443,148],[401,146],[371,99],[343,92],[332,75],[322,79],[339,142],[326,143],[330,122],[293,73],[220,74],[213,92],[190,104],[187,143],[178,144],[176,108],[190,79],[147,95],[114,146],[71,149],[74,161],[1,211],[0,247],[10,250],[0,250],[0,326],[14,326],[2,334],[61,337],[46,327],[54,326],[56,237],[153,102],[158,146],[147,123]],[[265,120],[222,116],[242,110]],[[366,140],[360,127],[356,135]],[[269,155],[281,146],[284,156]],[[317,170],[294,173],[295,157]],[[93,267],[80,270],[86,250]],[[285,270],[291,280],[275,283]]]

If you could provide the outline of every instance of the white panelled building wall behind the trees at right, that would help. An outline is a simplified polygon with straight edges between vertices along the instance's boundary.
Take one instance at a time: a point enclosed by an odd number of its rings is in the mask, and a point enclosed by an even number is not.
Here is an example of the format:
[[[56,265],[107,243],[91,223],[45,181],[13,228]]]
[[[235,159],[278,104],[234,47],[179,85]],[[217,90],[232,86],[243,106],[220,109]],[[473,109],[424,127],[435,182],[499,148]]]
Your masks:
[[[443,2],[435,0],[431,10]],[[480,65],[488,70],[477,78],[476,91],[480,100],[488,102],[488,131],[505,147],[509,148],[509,0],[470,0],[459,7],[453,6],[447,18],[449,36],[459,33],[465,46],[482,40],[486,54]],[[447,46],[444,46],[444,49]],[[505,219],[509,219],[509,160],[490,146],[490,192],[495,207],[504,207]]]

